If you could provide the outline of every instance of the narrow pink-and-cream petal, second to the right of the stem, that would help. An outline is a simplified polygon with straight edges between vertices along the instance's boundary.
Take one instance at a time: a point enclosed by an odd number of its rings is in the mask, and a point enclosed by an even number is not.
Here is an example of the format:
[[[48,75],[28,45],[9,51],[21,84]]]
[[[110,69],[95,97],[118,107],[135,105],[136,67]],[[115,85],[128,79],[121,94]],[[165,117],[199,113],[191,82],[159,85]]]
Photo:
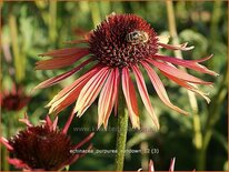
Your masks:
[[[159,129],[160,127],[159,127],[158,118],[155,114],[155,111],[152,109],[150,98],[149,98],[149,94],[148,94],[148,91],[147,91],[147,87],[146,87],[146,83],[145,83],[145,80],[143,80],[143,75],[141,74],[141,72],[140,72],[140,70],[137,65],[132,67],[132,71],[133,71],[135,77],[136,77],[136,81],[137,81],[139,93],[141,95],[141,100],[143,102],[147,111],[149,112],[153,123],[156,124],[157,129]]]

